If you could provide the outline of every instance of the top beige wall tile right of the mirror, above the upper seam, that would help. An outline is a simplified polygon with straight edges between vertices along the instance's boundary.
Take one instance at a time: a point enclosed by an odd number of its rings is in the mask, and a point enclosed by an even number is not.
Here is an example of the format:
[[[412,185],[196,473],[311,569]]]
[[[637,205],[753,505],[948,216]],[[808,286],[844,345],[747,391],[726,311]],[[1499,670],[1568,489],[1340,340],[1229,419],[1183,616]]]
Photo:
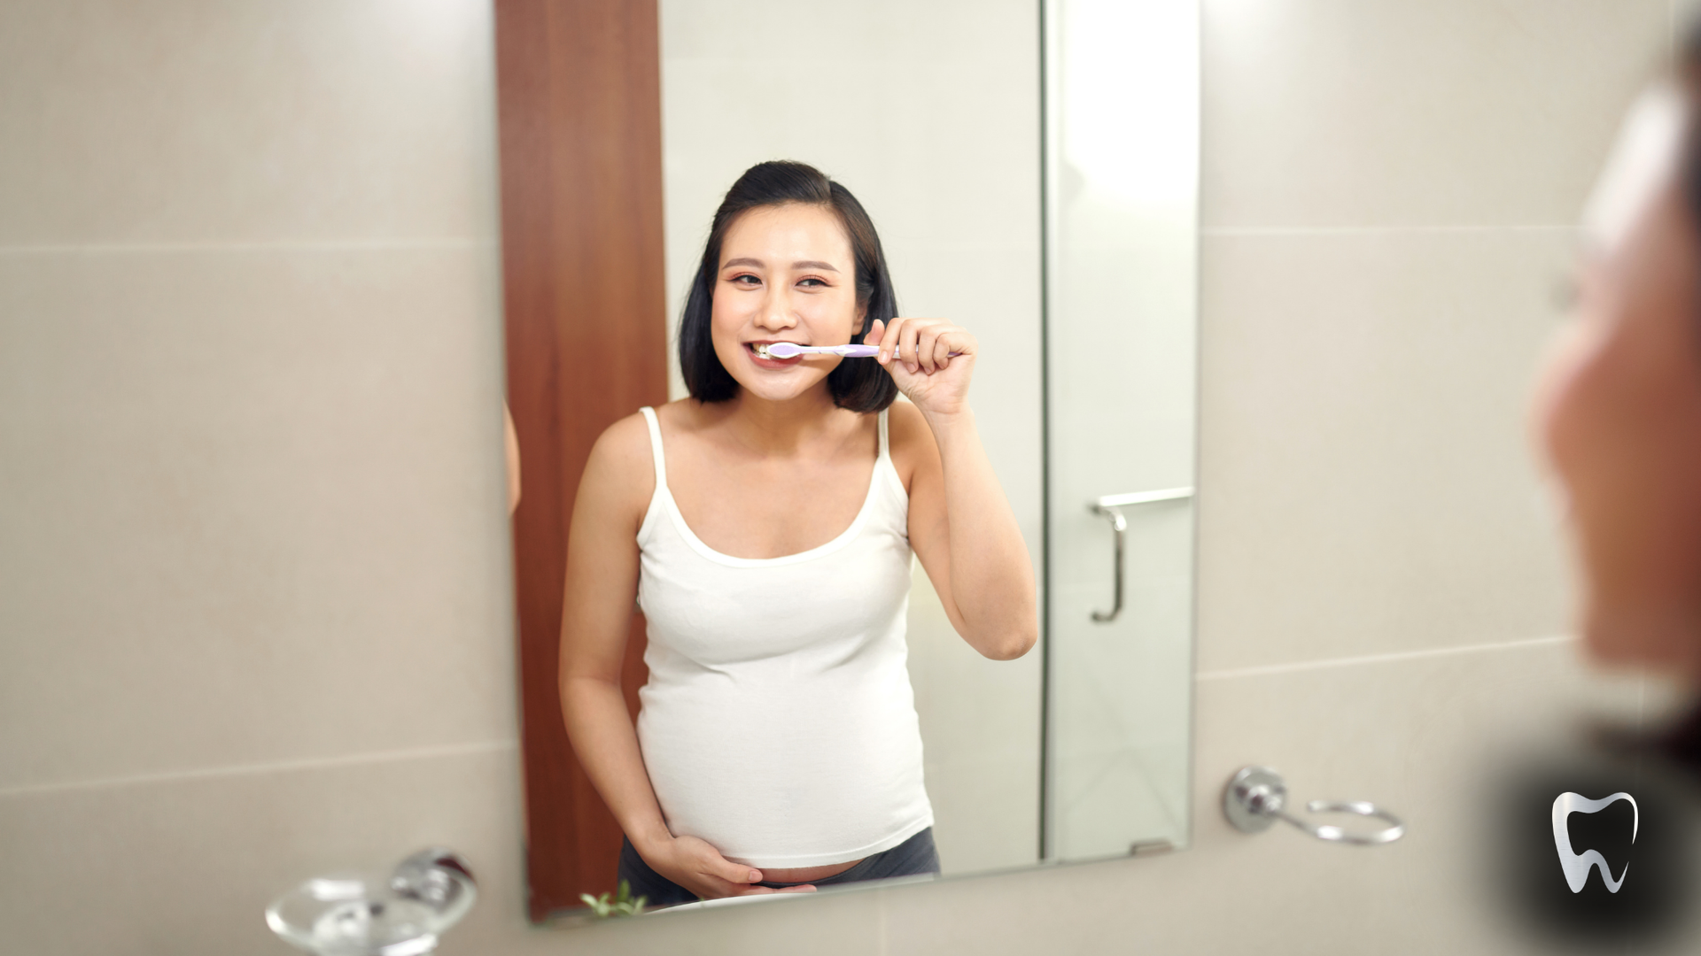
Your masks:
[[[1204,225],[1563,225],[1667,0],[1206,0]]]

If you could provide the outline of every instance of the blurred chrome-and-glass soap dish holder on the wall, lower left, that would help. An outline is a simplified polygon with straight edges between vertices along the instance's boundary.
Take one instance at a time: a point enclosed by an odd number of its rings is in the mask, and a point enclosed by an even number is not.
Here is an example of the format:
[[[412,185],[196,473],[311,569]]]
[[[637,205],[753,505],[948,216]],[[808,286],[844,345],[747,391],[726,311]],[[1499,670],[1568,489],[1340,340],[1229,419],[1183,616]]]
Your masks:
[[[476,898],[466,861],[430,847],[388,874],[308,879],[272,900],[265,925],[316,956],[422,956]]]

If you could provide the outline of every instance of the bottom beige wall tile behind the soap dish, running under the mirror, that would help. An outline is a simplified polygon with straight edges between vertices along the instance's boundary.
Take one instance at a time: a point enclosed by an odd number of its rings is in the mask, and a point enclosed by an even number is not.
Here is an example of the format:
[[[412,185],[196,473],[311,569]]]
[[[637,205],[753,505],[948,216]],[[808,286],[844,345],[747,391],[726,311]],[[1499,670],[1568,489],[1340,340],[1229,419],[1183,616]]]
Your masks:
[[[878,947],[874,893],[534,929],[519,806],[514,748],[0,796],[7,951],[287,953],[262,915],[272,898],[310,876],[386,869],[427,845],[461,852],[480,890],[442,956],[743,954],[805,937],[810,953]]]

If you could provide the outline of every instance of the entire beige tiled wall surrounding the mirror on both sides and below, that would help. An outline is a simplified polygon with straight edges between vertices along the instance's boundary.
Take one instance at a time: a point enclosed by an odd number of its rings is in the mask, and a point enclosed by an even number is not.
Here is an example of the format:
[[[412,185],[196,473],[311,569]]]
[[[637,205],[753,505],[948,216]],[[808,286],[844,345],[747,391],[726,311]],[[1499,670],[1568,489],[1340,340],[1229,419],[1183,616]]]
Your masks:
[[[0,7],[0,949],[281,953],[427,840],[454,953],[1504,953],[1475,779],[1589,677],[1521,427],[1667,0],[1208,0],[1196,839],[539,932],[521,919],[488,12]],[[1242,837],[1243,762],[1373,851]]]

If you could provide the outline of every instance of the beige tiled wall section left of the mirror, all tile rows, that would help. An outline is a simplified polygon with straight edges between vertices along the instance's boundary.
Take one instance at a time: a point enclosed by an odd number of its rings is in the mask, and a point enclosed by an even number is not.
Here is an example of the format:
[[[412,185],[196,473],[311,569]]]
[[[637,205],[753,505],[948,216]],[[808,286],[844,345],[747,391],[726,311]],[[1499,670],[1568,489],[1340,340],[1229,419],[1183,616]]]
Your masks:
[[[0,953],[517,912],[486,7],[0,3]]]

